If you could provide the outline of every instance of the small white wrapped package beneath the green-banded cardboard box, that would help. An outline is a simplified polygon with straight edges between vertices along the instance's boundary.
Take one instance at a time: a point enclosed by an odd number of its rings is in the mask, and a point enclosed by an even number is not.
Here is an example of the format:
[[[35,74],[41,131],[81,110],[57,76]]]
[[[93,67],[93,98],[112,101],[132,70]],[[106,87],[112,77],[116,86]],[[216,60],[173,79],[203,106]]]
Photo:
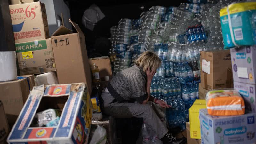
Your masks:
[[[36,76],[36,85],[59,84],[56,72],[48,72]]]

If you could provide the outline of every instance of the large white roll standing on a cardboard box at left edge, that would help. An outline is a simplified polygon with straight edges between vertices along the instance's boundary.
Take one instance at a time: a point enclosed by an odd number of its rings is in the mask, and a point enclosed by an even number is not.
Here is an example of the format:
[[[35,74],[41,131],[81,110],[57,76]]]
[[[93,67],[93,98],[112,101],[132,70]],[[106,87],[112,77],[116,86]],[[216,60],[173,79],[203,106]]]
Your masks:
[[[16,53],[0,52],[0,82],[17,79]]]

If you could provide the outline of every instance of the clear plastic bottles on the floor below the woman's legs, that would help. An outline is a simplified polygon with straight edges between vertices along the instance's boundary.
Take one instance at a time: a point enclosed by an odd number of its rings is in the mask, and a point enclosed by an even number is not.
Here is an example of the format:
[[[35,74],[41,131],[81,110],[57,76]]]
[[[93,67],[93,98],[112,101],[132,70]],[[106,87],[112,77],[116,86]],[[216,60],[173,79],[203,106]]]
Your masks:
[[[143,123],[141,132],[143,144],[162,144],[162,141],[158,138],[156,132],[150,128],[148,124]]]

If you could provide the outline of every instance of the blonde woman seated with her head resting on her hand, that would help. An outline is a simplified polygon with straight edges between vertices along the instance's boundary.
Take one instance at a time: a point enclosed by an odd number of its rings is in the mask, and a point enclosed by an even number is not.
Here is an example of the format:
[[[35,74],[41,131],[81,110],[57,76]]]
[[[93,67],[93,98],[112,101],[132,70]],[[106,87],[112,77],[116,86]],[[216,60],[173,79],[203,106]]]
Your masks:
[[[143,118],[156,131],[163,144],[182,144],[184,139],[176,140],[147,104],[153,101],[163,108],[170,107],[150,95],[151,81],[160,65],[161,59],[147,51],[135,61],[134,66],[117,73],[102,93],[103,111],[116,118]]]

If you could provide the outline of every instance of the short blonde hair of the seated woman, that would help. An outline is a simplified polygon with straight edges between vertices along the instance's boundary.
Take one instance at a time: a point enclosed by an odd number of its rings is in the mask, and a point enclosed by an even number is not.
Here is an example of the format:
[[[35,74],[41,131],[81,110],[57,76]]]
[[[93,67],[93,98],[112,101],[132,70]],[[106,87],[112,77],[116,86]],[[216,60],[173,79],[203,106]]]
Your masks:
[[[135,64],[143,68],[143,71],[149,68],[151,71],[156,71],[160,67],[162,61],[154,52],[143,52],[143,54],[135,60]]]

